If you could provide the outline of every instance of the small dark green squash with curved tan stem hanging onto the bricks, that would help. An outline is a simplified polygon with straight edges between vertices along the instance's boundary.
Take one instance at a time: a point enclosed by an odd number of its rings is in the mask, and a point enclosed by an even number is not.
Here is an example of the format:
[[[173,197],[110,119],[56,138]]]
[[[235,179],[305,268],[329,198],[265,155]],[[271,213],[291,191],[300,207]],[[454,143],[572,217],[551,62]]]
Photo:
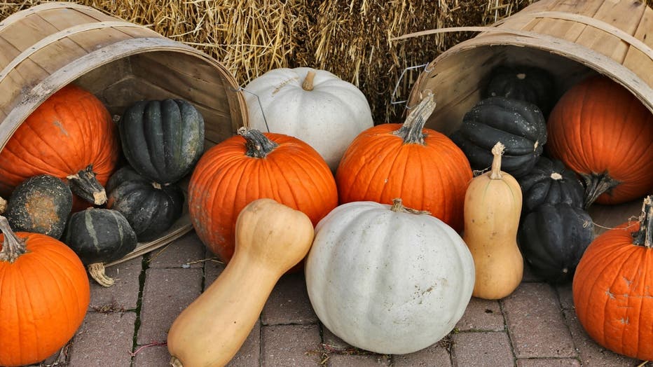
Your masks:
[[[93,279],[102,286],[111,286],[114,279],[104,275],[104,264],[129,254],[138,241],[121,212],[88,208],[70,216],[64,243],[88,266]]]

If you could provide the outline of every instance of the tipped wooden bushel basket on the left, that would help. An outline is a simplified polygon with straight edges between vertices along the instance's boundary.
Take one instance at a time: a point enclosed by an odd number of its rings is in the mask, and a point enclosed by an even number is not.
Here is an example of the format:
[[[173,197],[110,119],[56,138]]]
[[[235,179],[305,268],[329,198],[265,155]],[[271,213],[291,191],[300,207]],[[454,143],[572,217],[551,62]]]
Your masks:
[[[52,2],[0,22],[0,151],[32,111],[69,83],[92,92],[114,116],[141,99],[186,99],[205,119],[206,148],[247,120],[235,78],[205,53],[94,8]],[[121,261],[191,229],[186,210],[167,233]]]

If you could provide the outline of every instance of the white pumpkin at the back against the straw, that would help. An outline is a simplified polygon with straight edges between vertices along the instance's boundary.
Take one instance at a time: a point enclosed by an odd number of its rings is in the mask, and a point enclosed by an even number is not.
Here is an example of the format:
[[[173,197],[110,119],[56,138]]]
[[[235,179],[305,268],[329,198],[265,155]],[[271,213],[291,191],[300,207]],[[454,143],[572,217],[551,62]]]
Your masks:
[[[325,70],[273,69],[247,84],[244,95],[249,128],[305,141],[333,172],[352,140],[374,125],[365,95]]]

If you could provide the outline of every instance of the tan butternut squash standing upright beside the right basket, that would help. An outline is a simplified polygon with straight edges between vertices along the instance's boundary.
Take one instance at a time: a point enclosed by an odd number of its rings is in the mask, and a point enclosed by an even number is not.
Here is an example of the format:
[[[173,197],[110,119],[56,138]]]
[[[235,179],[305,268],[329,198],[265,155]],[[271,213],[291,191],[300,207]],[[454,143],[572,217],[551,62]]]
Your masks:
[[[514,291],[523,277],[517,246],[521,188],[501,170],[504,146],[492,149],[490,172],[474,177],[465,193],[465,241],[474,258],[476,282],[472,296],[499,299]]]

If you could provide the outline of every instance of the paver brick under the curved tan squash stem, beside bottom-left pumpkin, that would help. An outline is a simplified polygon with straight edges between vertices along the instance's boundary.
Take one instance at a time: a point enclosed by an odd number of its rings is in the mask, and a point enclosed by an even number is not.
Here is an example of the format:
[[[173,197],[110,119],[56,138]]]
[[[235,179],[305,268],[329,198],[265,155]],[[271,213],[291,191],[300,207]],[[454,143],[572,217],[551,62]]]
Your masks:
[[[135,310],[140,290],[139,276],[143,258],[137,257],[132,260],[119,263],[106,268],[106,275],[114,278],[116,284],[105,287],[97,284],[89,277],[90,282],[90,304],[92,310],[109,308],[111,310]]]

